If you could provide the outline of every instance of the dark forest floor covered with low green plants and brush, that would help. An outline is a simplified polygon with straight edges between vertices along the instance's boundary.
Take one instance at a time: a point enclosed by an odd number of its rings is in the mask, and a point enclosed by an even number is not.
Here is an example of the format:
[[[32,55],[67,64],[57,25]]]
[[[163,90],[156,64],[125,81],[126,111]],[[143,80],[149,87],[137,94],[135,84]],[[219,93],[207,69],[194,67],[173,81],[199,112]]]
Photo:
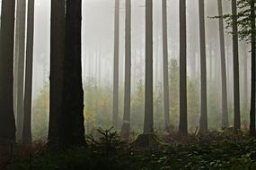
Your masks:
[[[247,132],[208,132],[181,138],[159,133],[157,149],[130,147],[116,132],[100,130],[88,136],[86,147],[50,151],[43,143],[33,149],[15,147],[5,159],[6,170],[208,170],[256,169],[256,140]],[[31,151],[30,151],[31,150]],[[0,166],[1,169],[1,166]]]

